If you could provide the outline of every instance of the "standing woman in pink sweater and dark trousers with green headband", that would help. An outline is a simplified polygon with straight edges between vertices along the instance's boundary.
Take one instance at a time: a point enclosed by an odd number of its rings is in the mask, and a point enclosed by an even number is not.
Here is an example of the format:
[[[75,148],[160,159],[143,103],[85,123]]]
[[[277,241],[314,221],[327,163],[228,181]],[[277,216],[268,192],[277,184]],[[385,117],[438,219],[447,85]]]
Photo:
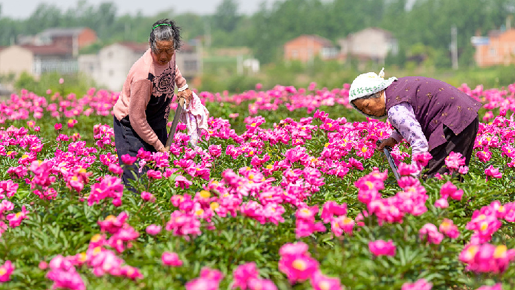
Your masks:
[[[187,87],[175,52],[181,47],[180,27],[170,19],[161,19],[152,25],[148,44],[150,48],[130,68],[127,79],[113,108],[115,144],[122,163],[122,155],[135,157],[140,148],[151,152],[164,152],[167,139],[166,124],[175,85],[178,97],[190,102],[192,92]],[[124,170],[123,180],[139,177],[146,170],[133,165]],[[141,171],[141,172],[140,172]]]

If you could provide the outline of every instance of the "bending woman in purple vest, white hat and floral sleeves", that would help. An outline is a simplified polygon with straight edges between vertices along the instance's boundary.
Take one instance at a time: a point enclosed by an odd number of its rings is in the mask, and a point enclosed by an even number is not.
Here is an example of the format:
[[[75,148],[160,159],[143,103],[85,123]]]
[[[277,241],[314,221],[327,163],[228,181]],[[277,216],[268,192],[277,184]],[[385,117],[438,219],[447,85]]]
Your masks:
[[[402,138],[411,145],[411,155],[429,152],[424,177],[448,172],[445,158],[450,152],[466,157],[466,166],[479,127],[481,102],[441,80],[422,76],[384,79],[361,74],[350,87],[352,107],[369,118],[385,118],[393,125],[391,137],[378,146],[395,146]],[[419,172],[420,173],[420,172]]]

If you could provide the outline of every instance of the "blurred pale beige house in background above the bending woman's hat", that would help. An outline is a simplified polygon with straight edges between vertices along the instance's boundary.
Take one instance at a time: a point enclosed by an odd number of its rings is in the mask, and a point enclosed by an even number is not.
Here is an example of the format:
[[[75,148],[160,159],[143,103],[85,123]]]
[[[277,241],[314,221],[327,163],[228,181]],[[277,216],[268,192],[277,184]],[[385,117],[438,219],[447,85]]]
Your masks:
[[[399,52],[398,41],[387,30],[369,27],[347,38],[340,39],[340,59],[357,58],[360,63],[372,61],[376,65],[384,65],[388,54],[396,55]]]

